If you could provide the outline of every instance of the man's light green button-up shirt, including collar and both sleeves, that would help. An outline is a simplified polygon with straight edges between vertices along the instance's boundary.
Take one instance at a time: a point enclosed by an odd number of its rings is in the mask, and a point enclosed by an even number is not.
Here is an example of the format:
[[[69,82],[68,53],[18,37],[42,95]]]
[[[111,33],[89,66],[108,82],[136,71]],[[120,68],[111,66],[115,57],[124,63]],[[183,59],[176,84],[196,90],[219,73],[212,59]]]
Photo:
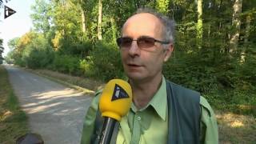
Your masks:
[[[101,94],[100,92],[96,95]],[[90,143],[93,133],[96,111],[98,110],[96,96],[87,111],[82,130],[83,144]],[[167,143],[168,134],[168,106],[166,94],[166,80],[162,78],[162,84],[157,93],[145,108],[137,110],[134,103],[128,114],[122,118],[118,131],[117,144],[155,144]],[[218,143],[218,126],[214,111],[205,98],[200,97],[201,116],[201,143]]]

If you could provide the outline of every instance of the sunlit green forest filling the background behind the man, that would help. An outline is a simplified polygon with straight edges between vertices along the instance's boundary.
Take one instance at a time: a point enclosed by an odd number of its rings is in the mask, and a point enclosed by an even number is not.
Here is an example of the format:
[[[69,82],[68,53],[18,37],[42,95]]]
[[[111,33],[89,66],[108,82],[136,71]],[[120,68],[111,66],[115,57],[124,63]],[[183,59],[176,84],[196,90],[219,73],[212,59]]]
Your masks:
[[[166,78],[198,90],[219,110],[256,115],[255,0],[36,0],[33,29],[8,42],[5,60],[105,82],[126,79],[116,38],[140,7],[176,22]]]

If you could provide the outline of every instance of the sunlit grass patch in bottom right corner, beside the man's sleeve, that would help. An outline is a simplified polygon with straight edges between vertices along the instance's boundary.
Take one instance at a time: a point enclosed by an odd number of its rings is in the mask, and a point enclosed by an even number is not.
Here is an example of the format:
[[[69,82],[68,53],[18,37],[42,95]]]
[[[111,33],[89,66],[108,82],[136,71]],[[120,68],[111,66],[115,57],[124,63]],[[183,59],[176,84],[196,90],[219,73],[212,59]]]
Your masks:
[[[218,120],[219,142],[225,144],[256,142],[256,118],[215,110]]]

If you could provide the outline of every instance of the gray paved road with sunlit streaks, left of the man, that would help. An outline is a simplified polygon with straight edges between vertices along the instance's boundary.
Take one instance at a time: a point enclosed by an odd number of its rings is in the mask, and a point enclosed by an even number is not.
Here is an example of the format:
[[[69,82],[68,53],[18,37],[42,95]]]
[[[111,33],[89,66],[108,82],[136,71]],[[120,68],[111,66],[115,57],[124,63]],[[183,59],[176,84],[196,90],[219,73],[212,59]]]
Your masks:
[[[78,144],[91,98],[36,74],[6,66],[30,130],[46,144]]]

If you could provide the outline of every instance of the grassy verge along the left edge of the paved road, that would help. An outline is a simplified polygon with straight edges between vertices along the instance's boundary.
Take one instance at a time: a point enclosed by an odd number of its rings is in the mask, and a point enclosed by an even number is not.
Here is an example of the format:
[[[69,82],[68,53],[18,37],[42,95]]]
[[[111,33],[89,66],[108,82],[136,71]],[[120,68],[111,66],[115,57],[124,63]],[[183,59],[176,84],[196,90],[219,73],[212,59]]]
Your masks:
[[[0,66],[0,143],[15,143],[19,136],[27,132],[26,114],[18,104],[5,68]]]

